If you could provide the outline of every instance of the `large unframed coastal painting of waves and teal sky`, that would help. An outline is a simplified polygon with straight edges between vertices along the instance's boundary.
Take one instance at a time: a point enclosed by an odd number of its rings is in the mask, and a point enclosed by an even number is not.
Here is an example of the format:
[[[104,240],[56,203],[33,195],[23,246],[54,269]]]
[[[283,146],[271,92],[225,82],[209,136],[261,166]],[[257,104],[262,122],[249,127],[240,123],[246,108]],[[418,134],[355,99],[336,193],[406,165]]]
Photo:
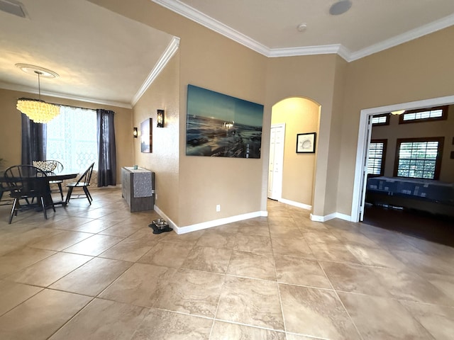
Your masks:
[[[261,104],[188,85],[188,156],[260,158],[262,122]]]

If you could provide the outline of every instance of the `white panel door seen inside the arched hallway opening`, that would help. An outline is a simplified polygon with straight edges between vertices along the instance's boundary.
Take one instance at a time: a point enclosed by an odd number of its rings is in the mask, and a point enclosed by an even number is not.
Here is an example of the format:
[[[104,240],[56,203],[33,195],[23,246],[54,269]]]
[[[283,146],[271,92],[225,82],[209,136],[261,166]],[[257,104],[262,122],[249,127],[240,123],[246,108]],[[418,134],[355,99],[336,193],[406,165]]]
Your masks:
[[[271,125],[270,164],[268,164],[268,198],[282,198],[282,166],[284,163],[285,124]]]

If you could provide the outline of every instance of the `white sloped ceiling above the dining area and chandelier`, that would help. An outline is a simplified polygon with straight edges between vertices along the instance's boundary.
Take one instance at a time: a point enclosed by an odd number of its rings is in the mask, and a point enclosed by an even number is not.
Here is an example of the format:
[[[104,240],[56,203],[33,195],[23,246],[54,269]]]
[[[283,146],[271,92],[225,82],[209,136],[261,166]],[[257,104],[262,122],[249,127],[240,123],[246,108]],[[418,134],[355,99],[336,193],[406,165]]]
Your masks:
[[[21,0],[28,18],[0,11],[0,87],[131,107],[172,36],[81,0]],[[33,96],[31,98],[36,98]]]

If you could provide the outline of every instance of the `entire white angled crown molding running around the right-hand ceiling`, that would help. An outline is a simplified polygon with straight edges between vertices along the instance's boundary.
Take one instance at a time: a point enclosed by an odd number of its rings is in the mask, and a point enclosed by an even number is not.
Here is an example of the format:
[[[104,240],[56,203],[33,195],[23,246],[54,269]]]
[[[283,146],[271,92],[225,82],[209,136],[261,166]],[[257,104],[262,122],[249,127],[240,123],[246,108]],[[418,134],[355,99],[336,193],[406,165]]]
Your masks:
[[[152,0],[156,4],[159,4],[170,11],[184,16],[196,23],[199,23],[201,26],[205,26],[210,30],[214,30],[216,33],[224,35],[227,38],[230,38],[245,47],[254,50],[255,52],[265,55],[265,57],[292,57],[299,55],[323,55],[336,53],[343,57],[347,62],[353,62],[362,57],[367,57],[367,55],[372,55],[374,53],[387,50],[390,47],[400,45],[404,42],[420,38],[423,35],[427,35],[437,30],[447,28],[454,25],[454,14],[441,18],[438,21],[433,23],[428,23],[427,25],[415,28],[414,30],[409,30],[406,33],[397,35],[393,38],[384,40],[375,45],[365,47],[362,50],[351,52],[347,47],[344,47],[341,44],[336,45],[321,45],[321,46],[309,46],[309,47],[286,47],[286,48],[270,48],[265,45],[260,44],[247,35],[233,30],[233,28],[226,26],[225,24],[217,21],[214,18],[206,16],[206,14],[197,11],[196,9],[188,6],[187,4],[182,3],[179,0]]]

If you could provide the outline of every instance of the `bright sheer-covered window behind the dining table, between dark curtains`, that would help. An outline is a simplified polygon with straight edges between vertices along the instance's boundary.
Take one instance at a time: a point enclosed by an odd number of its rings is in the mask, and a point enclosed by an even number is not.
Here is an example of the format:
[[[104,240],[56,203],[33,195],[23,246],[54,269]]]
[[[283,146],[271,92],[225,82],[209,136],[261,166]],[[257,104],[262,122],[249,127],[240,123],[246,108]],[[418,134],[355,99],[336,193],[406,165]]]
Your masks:
[[[97,164],[96,133],[95,110],[60,106],[60,115],[47,123],[47,159],[61,162],[68,171]]]

